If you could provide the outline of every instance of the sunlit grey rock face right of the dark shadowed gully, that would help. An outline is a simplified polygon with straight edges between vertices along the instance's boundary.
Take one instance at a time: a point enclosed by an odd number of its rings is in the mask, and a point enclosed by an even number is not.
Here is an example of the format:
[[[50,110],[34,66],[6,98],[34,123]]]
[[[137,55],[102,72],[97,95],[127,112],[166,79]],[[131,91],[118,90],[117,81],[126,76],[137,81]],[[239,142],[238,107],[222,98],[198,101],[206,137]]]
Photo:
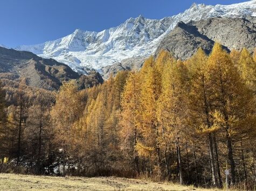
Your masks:
[[[198,32],[209,39],[218,41],[231,49],[246,47],[253,51],[256,47],[256,18],[210,18],[193,21]]]

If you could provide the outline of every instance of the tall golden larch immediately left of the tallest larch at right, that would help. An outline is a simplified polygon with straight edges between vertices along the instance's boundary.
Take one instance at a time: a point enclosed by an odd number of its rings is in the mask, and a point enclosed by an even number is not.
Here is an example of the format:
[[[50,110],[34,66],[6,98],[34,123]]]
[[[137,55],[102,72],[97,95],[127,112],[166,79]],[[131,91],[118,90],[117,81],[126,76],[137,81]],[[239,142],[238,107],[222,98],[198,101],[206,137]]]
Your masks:
[[[207,56],[204,51],[199,48],[197,53],[190,59],[190,92],[188,98],[190,119],[193,120],[192,124],[195,126],[196,130],[202,131],[207,135],[213,186],[218,185],[222,187],[219,165],[217,165],[218,161],[215,160],[213,133],[216,131],[216,128],[213,127],[211,117],[212,98],[208,72]],[[217,177],[219,178],[218,180]]]

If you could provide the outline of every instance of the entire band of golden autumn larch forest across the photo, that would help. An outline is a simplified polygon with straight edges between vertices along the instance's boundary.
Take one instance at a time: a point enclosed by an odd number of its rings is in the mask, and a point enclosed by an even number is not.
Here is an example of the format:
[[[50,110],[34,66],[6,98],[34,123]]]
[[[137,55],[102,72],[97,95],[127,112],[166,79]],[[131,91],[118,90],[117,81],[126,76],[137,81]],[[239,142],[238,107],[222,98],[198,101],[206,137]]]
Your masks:
[[[1,171],[223,187],[228,168],[230,185],[255,189],[255,62],[216,43],[186,61],[162,51],[86,90],[21,82],[11,104],[1,90]]]

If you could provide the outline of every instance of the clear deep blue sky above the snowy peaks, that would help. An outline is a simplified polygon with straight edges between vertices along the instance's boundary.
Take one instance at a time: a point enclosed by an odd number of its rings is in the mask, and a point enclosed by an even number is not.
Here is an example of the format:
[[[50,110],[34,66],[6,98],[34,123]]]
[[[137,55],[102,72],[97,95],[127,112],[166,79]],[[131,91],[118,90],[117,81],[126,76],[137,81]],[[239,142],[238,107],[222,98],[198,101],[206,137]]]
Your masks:
[[[0,0],[0,44],[32,45],[71,34],[76,28],[102,31],[140,14],[160,19],[195,3],[232,4],[246,0]]]

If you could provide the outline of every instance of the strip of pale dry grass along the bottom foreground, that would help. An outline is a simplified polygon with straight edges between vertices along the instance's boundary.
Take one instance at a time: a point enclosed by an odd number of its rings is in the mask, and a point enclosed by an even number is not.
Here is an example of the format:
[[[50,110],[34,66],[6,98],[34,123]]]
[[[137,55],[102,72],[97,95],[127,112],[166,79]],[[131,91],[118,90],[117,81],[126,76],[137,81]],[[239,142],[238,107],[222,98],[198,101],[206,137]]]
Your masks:
[[[115,177],[46,177],[0,174],[0,190],[217,190]]]

